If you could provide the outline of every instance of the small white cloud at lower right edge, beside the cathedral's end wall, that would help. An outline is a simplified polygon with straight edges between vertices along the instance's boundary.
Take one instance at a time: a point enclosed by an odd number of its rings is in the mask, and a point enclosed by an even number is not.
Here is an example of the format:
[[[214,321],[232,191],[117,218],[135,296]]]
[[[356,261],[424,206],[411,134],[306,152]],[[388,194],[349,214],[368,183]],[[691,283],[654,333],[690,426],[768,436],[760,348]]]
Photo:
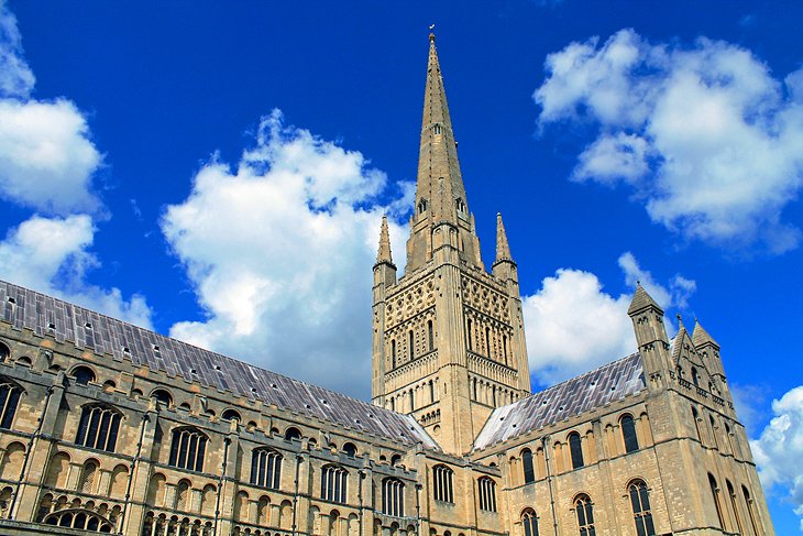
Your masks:
[[[803,385],[772,401],[774,417],[761,436],[750,441],[766,488],[785,488],[794,512],[803,517]],[[801,519],[803,530],[803,519]]]

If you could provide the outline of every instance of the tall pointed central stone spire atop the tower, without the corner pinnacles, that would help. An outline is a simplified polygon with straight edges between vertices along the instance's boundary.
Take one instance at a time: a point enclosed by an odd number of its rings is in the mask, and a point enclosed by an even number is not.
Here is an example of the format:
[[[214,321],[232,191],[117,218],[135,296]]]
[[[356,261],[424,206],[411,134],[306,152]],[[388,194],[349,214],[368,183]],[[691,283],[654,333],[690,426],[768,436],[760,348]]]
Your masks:
[[[435,34],[429,35],[416,206],[430,211],[435,221],[454,222],[459,211],[469,214]]]

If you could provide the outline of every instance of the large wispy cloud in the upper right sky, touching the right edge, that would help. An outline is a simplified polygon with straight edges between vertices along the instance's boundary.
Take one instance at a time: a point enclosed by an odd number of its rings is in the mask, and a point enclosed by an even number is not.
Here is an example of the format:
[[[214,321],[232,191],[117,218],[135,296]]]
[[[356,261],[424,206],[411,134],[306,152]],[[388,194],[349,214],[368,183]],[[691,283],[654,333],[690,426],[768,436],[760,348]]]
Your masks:
[[[654,222],[686,240],[798,245],[781,216],[803,183],[803,72],[778,80],[737,45],[650,44],[632,30],[571,43],[544,68],[534,95],[541,128],[597,132],[573,179],[629,185]]]

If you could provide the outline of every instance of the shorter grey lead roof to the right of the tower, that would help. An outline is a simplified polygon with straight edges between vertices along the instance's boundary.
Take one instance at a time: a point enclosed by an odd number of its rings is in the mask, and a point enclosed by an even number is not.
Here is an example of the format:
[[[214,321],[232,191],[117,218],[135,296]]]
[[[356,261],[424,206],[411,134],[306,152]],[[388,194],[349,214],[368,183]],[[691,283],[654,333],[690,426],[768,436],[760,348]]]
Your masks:
[[[641,357],[634,353],[491,414],[474,441],[484,449],[640,392],[647,385]]]

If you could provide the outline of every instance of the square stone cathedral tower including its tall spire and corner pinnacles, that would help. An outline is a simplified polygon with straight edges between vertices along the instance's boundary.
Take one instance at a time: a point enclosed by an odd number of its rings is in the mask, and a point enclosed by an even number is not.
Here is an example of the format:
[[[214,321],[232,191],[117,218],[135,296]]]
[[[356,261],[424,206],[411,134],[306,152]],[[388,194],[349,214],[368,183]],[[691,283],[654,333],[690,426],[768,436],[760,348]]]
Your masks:
[[[516,263],[497,215],[485,271],[430,35],[416,206],[396,277],[387,222],[374,265],[373,403],[413,415],[462,455],[491,412],[530,394]]]

